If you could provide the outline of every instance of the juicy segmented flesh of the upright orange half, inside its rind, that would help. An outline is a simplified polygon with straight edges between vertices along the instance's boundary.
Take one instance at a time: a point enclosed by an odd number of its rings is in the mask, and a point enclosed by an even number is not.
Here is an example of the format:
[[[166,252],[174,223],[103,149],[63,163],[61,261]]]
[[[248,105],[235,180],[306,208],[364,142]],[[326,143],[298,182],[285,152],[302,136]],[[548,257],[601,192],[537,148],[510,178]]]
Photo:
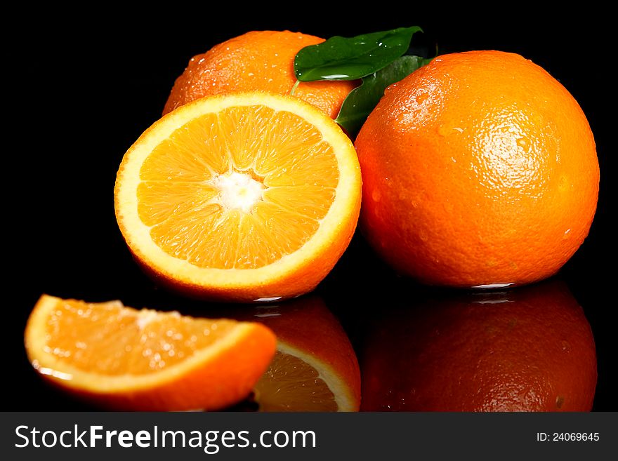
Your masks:
[[[254,269],[294,253],[329,211],[334,151],[290,112],[237,106],[178,128],[140,170],[152,240],[197,267]]]

